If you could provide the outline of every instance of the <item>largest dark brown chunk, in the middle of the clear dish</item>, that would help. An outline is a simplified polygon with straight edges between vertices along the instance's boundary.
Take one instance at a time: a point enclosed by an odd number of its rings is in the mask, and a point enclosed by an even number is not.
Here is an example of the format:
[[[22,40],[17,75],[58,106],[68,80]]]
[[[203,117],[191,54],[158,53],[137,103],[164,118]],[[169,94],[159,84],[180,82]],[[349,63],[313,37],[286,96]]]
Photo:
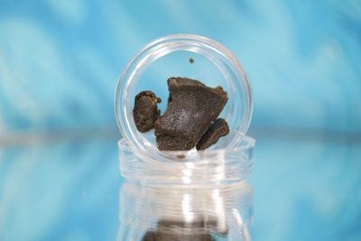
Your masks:
[[[168,107],[154,123],[158,148],[190,150],[225,107],[227,92],[221,87],[209,88],[195,79],[170,78],[167,82]]]

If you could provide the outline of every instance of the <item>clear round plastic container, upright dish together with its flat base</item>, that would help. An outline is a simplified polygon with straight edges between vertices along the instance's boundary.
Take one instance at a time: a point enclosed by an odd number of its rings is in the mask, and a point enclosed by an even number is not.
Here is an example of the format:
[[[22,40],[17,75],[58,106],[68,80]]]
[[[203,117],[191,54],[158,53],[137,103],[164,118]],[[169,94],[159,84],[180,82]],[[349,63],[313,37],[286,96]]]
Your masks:
[[[191,60],[190,60],[191,59]],[[230,134],[206,151],[159,151],[153,131],[140,133],[134,123],[134,97],[152,90],[168,98],[167,79],[198,79],[210,87],[221,86],[228,101],[220,117]],[[128,63],[116,88],[119,167],[127,180],[143,184],[232,183],[245,180],[253,166],[255,140],[246,136],[252,117],[252,94],[245,71],[236,57],[220,43],[206,37],[175,34],[147,44]]]

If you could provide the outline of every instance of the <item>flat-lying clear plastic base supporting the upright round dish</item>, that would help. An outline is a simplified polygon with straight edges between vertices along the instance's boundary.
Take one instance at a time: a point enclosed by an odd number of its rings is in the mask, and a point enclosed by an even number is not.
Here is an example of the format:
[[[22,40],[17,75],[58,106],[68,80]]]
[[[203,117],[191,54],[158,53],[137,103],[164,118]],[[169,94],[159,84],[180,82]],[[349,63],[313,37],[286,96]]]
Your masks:
[[[240,144],[227,151],[219,148],[200,152],[158,151],[158,160],[143,158],[143,153],[131,148],[125,139],[118,146],[120,173],[128,181],[144,185],[214,185],[248,177],[254,163],[255,139],[244,136]]]

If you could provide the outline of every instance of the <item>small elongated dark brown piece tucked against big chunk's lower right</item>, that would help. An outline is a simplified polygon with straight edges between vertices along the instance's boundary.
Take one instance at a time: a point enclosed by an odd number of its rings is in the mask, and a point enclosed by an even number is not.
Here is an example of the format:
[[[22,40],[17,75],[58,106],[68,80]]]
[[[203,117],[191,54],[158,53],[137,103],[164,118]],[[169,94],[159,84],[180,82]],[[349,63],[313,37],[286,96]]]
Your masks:
[[[212,144],[216,144],[220,137],[229,134],[229,127],[227,121],[218,118],[212,125],[209,126],[206,134],[202,136],[197,144],[197,150],[205,150]]]

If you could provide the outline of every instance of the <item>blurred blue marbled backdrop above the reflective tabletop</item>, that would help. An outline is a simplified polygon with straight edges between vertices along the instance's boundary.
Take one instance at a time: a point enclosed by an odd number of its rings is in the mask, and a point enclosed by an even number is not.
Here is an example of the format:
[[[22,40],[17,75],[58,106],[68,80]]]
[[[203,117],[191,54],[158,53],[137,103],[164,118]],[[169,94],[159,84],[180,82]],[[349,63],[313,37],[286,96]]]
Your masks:
[[[243,63],[253,127],[361,133],[359,1],[0,3],[0,130],[116,126],[116,81],[171,33],[222,42]]]

